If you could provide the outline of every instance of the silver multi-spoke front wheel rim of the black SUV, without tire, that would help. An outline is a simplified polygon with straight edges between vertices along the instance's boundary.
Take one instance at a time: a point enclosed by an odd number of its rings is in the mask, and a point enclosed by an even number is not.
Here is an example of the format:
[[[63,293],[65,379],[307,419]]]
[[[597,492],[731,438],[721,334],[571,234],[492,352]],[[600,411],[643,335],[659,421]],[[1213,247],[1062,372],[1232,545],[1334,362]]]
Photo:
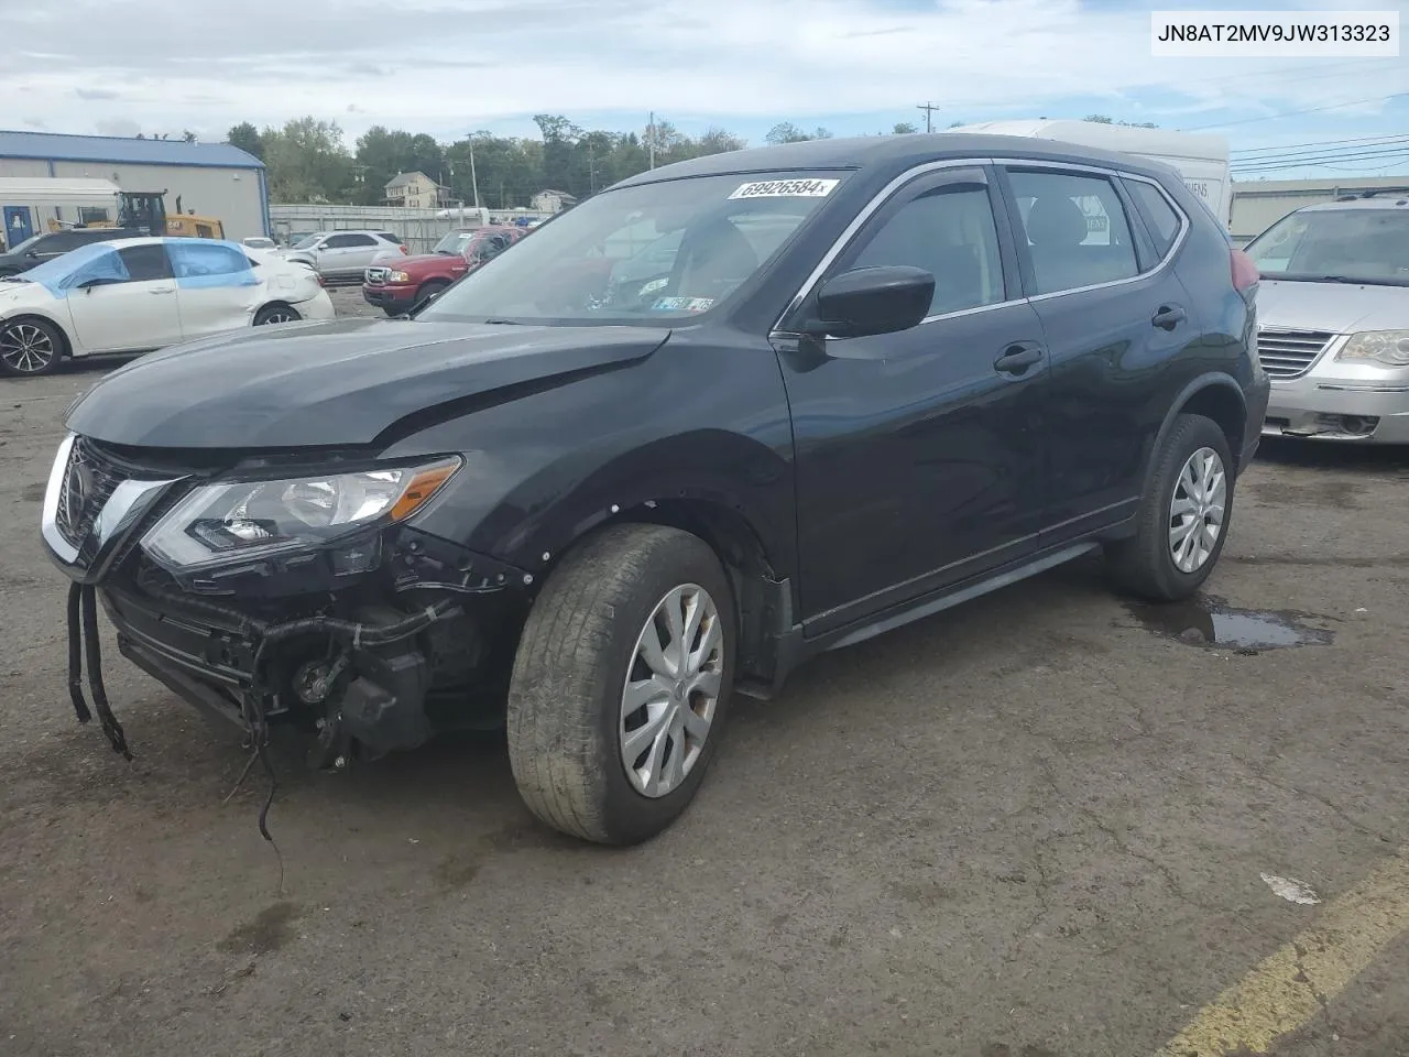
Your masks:
[[[637,636],[617,722],[621,765],[643,796],[678,789],[699,762],[724,678],[724,627],[704,588],[669,591]]]

